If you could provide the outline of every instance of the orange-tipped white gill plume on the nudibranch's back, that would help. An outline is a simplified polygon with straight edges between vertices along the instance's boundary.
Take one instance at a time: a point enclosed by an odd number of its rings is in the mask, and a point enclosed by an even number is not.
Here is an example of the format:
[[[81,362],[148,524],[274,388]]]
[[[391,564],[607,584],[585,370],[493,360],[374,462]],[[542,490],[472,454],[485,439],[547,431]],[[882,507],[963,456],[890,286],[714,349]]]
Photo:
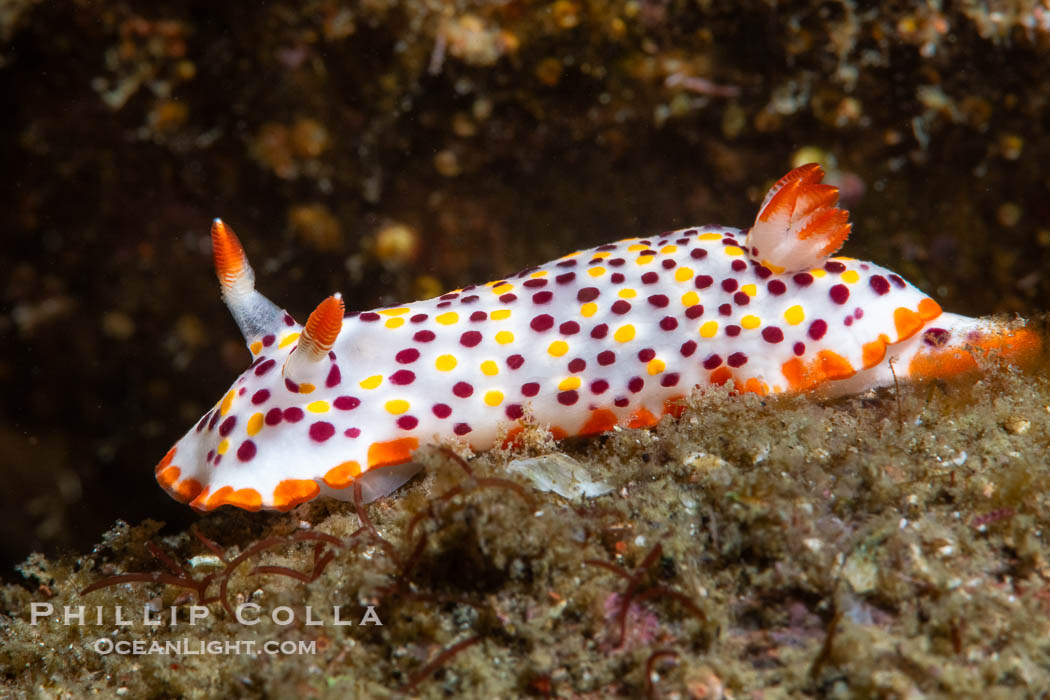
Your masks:
[[[774,272],[823,263],[849,235],[837,187],[821,184],[816,163],[799,166],[770,188],[748,233],[751,256]]]

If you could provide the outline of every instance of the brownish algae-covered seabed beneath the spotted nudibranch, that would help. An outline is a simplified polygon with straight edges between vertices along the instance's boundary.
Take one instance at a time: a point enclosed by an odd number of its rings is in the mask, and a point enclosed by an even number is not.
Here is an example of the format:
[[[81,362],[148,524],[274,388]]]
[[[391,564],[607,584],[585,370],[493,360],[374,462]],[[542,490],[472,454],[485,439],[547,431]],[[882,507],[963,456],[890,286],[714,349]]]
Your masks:
[[[1050,684],[1047,369],[835,401],[718,389],[560,443],[530,426],[468,461],[424,451],[366,521],[322,501],[119,524],[2,589],[5,690],[1032,693]],[[567,501],[505,468],[554,453],[611,491]]]

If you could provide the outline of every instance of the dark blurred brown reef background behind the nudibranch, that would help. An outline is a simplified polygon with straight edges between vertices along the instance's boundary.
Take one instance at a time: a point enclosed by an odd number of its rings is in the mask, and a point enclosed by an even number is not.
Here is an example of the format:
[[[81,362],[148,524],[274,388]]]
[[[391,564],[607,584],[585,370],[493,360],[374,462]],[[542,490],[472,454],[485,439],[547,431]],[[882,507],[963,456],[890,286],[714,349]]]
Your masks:
[[[747,226],[816,158],[846,254],[1045,311],[1050,10],[917,4],[5,4],[0,575],[198,517],[153,465],[248,364],[214,216],[301,321]]]

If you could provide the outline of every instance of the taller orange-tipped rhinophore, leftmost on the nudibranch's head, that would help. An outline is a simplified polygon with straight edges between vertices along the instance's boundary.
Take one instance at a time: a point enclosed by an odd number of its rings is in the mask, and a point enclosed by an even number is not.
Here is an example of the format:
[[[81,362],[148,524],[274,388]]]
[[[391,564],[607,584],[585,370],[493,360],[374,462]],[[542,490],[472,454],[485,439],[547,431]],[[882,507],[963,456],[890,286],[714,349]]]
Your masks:
[[[248,263],[245,249],[233,229],[222,219],[211,224],[211,250],[215,258],[215,274],[223,287],[223,300],[233,314],[233,320],[251,345],[262,336],[274,333],[285,316],[276,304],[255,291],[255,272]]]

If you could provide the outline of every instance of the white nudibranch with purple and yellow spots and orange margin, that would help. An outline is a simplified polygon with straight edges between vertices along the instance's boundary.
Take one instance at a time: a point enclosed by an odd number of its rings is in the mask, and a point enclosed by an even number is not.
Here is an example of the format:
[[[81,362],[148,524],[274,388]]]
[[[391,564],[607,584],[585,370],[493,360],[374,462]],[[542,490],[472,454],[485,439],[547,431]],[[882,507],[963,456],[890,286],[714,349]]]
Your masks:
[[[817,165],[765,196],[749,230],[701,226],[580,251],[435,299],[299,325],[255,290],[233,231],[211,238],[253,361],[156,467],[178,501],[288,510],[371,501],[421,444],[491,447],[530,413],[555,438],[678,415],[694,388],[825,396],[944,377],[982,353],[1020,360],[1034,333],[942,313],[875,263],[831,257],[849,234]]]

